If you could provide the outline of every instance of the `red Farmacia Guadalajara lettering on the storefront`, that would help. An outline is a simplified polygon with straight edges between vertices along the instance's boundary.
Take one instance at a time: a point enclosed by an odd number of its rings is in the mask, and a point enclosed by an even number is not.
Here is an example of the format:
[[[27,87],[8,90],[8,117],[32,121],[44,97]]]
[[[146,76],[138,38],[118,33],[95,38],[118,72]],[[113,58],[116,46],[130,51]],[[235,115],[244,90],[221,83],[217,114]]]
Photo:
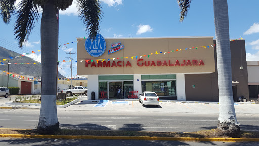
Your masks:
[[[159,66],[204,66],[203,60],[164,60],[164,61],[150,61],[138,59],[137,65],[140,67],[159,67]],[[98,61],[85,62],[85,67],[131,67],[130,61]]]

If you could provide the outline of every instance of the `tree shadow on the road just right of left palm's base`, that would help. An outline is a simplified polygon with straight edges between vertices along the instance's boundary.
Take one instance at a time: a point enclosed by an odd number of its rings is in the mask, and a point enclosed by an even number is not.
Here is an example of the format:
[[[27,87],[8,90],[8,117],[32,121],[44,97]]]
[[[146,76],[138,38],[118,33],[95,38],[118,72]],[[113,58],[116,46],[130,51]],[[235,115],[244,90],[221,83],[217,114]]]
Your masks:
[[[112,130],[106,126],[92,124],[92,123],[84,123],[84,124],[60,124],[60,128],[67,128],[73,130]]]

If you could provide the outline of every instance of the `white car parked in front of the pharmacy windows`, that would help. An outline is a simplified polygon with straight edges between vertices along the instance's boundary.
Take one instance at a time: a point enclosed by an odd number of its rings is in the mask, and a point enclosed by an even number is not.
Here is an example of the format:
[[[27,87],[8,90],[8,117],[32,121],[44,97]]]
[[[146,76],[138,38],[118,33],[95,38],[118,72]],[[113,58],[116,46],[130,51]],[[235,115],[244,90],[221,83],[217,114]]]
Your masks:
[[[140,94],[139,102],[142,103],[142,106],[145,106],[145,105],[159,106],[159,97],[156,95],[155,92],[145,91],[142,94]]]

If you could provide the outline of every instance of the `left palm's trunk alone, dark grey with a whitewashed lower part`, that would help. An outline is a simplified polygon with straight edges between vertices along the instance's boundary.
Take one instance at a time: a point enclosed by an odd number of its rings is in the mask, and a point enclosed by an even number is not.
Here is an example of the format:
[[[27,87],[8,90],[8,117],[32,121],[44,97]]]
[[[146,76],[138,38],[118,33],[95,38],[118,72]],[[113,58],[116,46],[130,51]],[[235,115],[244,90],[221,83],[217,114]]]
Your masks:
[[[56,105],[59,20],[54,1],[45,3],[41,19],[42,92],[38,131],[50,133],[59,129]]]

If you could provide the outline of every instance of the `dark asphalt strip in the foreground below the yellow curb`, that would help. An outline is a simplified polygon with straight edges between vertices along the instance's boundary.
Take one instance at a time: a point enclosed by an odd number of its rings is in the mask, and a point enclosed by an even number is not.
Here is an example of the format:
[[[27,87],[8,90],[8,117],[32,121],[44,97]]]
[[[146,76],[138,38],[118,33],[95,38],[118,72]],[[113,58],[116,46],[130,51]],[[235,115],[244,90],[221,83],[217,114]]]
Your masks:
[[[207,145],[245,145],[254,146],[259,145],[259,142],[195,142],[195,141],[148,141],[148,140],[95,140],[95,139],[35,139],[35,138],[0,138],[0,145],[193,145],[193,146],[207,146]]]

